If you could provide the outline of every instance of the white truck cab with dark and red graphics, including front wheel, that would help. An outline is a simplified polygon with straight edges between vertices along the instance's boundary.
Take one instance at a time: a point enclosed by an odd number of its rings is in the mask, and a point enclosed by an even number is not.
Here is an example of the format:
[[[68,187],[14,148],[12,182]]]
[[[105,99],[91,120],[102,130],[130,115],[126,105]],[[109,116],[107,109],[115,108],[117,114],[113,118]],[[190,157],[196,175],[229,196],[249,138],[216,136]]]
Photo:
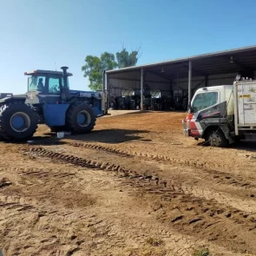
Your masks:
[[[205,139],[216,147],[232,143],[233,85],[198,89],[188,106],[183,131],[194,139]],[[231,122],[230,122],[231,121]]]

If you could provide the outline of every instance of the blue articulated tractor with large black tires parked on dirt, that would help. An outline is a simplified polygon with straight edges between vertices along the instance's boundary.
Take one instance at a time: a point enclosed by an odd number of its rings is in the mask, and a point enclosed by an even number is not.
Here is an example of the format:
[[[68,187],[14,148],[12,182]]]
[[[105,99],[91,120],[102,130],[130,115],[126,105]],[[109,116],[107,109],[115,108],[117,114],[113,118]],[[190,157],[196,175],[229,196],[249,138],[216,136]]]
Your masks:
[[[97,117],[107,115],[107,97],[102,92],[69,89],[68,67],[62,71],[25,72],[28,92],[0,100],[0,136],[7,141],[24,141],[35,133],[38,124],[51,131],[87,134]]]

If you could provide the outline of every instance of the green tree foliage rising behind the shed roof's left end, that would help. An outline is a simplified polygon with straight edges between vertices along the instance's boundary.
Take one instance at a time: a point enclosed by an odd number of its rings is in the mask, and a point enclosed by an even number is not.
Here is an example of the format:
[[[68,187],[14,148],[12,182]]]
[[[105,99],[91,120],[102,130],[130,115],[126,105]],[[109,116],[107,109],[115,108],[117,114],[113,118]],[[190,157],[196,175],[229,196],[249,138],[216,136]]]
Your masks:
[[[102,73],[104,70],[135,66],[138,62],[139,50],[128,52],[124,47],[115,55],[104,52],[100,57],[86,56],[82,66],[83,76],[89,77],[89,89],[102,90]]]

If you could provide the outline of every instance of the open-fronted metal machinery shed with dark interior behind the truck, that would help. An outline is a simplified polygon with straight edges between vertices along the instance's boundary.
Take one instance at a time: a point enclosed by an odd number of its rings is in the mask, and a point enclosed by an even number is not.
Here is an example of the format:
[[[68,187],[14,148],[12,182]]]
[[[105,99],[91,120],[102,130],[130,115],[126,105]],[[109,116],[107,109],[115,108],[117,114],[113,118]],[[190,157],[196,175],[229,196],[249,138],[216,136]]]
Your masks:
[[[108,70],[108,108],[186,109],[196,89],[233,84],[237,74],[254,79],[256,46],[166,62]]]

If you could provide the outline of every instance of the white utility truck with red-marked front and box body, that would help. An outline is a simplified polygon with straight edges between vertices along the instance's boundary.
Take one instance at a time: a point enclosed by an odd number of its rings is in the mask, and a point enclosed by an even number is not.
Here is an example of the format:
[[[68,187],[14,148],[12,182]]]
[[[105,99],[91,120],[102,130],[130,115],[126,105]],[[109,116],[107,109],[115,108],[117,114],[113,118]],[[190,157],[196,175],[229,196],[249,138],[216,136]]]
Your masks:
[[[185,135],[213,147],[256,141],[256,81],[198,89],[182,124]]]

